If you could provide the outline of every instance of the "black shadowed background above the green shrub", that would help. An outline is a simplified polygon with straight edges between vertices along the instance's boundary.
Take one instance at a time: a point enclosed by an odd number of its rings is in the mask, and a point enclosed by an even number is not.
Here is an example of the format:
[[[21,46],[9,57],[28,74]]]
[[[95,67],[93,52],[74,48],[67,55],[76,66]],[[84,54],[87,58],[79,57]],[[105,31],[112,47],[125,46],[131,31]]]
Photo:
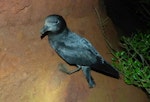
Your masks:
[[[149,0],[104,0],[108,16],[123,35],[150,28]]]

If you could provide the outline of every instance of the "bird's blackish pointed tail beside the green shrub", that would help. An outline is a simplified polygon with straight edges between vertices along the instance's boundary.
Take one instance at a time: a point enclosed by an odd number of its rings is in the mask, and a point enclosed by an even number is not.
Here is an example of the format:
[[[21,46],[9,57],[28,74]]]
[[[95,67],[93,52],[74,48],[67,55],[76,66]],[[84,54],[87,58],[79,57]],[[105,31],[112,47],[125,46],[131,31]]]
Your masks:
[[[91,69],[93,71],[103,73],[107,76],[111,76],[113,78],[119,79],[119,72],[114,67],[112,67],[109,63],[107,63],[106,61],[104,61],[103,64],[96,63],[96,64],[92,65]]]

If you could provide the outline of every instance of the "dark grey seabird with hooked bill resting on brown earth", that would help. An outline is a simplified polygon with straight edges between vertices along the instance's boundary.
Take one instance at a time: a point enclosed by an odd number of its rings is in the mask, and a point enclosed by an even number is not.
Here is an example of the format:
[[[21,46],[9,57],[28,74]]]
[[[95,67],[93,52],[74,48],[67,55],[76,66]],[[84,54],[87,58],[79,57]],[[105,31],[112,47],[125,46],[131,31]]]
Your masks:
[[[119,79],[118,71],[104,60],[87,39],[70,31],[62,16],[56,14],[47,16],[40,33],[41,39],[48,35],[51,47],[63,60],[77,66],[73,71],[62,68],[63,72],[72,74],[82,69],[89,87],[95,86],[91,70]]]

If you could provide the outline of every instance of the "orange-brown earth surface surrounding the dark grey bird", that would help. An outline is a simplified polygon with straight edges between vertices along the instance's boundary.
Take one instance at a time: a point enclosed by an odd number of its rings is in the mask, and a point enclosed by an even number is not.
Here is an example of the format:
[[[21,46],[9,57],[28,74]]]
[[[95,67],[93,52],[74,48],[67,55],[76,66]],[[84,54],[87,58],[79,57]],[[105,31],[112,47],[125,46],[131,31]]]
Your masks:
[[[61,14],[72,31],[90,40],[111,62],[103,34],[114,47],[117,35],[110,19],[104,23],[105,28],[99,26],[93,8],[98,8],[98,4],[98,0],[1,1],[0,102],[149,102],[141,89],[126,85],[122,78],[117,80],[92,71],[96,87],[90,89],[82,71],[72,75],[60,72],[59,63],[70,69],[75,67],[54,52],[47,37],[40,39],[44,18]]]

